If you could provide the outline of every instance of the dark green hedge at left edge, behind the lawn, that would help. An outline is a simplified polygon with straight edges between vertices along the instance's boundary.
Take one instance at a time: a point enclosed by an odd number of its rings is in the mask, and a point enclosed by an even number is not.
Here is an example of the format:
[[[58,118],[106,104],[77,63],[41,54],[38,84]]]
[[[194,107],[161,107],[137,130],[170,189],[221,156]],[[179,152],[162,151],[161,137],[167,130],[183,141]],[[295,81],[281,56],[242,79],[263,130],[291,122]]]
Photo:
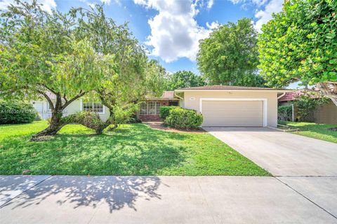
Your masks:
[[[32,123],[37,118],[32,104],[22,102],[0,102],[0,124]]]

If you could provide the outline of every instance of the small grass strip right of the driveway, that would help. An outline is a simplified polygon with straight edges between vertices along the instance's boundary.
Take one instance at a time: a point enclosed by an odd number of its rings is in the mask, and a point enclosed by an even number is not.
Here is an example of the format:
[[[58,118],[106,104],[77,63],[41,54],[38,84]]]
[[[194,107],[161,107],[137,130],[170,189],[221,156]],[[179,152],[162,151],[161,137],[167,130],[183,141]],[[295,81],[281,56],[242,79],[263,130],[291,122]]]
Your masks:
[[[324,124],[305,123],[305,122],[286,122],[283,124],[300,129],[300,131],[298,132],[291,132],[291,133],[337,143],[337,132],[328,130],[331,127],[337,127],[337,125],[324,125]]]

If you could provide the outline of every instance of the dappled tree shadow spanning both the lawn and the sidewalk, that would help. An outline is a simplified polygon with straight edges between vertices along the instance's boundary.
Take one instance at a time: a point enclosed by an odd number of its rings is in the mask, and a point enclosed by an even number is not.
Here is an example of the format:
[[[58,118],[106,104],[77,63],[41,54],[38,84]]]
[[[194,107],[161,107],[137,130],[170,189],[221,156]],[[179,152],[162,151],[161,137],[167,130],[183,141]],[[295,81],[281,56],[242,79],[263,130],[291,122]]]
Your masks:
[[[180,144],[187,138],[131,125],[100,136],[65,132],[51,141],[30,142],[29,136],[6,139],[1,142],[0,174],[29,169],[29,174],[117,176],[52,176],[5,206],[25,208],[46,200],[74,209],[107,206],[112,213],[127,206],[136,211],[137,200],[161,198],[156,193],[161,181],[157,176],[128,175],[157,175],[179,166],[185,161]],[[18,190],[15,184],[6,186],[13,189]]]

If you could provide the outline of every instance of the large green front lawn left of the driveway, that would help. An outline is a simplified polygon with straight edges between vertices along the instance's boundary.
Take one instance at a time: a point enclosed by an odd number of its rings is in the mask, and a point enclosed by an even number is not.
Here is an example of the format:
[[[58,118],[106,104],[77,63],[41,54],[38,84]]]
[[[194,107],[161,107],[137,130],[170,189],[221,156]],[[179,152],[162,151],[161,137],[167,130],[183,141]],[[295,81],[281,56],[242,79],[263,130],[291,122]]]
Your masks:
[[[50,141],[30,142],[46,122],[0,125],[0,174],[268,176],[210,134],[153,130],[144,124],[95,135],[67,125]]]

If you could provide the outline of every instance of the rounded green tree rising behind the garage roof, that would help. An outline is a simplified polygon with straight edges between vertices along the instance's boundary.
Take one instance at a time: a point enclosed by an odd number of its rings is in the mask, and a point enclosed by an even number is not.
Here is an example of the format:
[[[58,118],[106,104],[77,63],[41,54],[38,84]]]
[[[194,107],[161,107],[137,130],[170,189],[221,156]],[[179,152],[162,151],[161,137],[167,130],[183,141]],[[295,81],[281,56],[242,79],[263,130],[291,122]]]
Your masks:
[[[243,18],[213,29],[199,43],[197,64],[211,85],[263,86],[258,75],[257,32]]]

